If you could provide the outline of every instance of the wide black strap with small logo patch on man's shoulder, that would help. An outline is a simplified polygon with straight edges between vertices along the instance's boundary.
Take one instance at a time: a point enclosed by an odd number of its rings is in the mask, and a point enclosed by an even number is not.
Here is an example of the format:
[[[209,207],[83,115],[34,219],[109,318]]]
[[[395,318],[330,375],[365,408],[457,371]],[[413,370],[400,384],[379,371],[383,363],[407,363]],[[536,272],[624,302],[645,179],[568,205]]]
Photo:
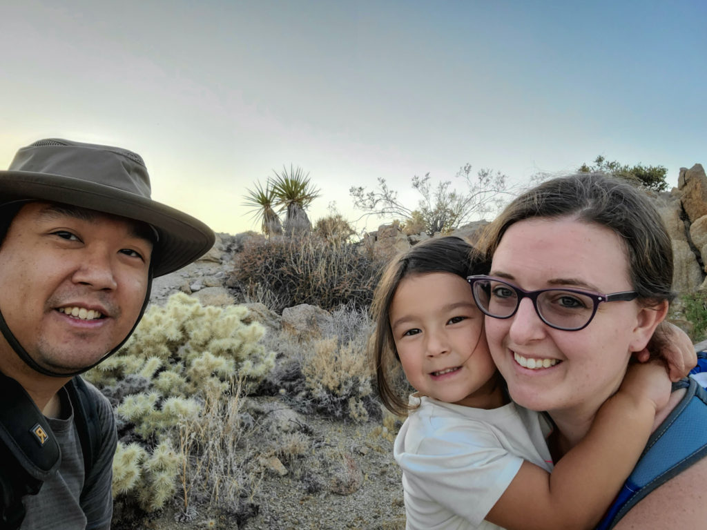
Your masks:
[[[61,461],[49,422],[21,384],[0,374],[0,529],[22,523],[22,497],[36,495]]]

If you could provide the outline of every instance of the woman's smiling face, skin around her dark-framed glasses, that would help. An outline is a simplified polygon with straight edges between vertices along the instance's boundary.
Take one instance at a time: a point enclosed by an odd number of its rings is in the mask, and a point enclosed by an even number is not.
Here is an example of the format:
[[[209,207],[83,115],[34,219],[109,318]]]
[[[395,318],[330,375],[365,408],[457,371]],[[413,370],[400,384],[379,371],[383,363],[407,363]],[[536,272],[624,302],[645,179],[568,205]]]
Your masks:
[[[511,225],[493,254],[491,276],[525,290],[633,290],[619,236],[573,218],[533,218]],[[631,351],[643,348],[636,333],[640,321],[636,301],[608,302],[599,305],[584,329],[561,331],[544,324],[532,301],[523,298],[513,317],[486,317],[486,336],[514,401],[536,411],[590,418],[618,389]],[[527,360],[537,367],[527,367]]]

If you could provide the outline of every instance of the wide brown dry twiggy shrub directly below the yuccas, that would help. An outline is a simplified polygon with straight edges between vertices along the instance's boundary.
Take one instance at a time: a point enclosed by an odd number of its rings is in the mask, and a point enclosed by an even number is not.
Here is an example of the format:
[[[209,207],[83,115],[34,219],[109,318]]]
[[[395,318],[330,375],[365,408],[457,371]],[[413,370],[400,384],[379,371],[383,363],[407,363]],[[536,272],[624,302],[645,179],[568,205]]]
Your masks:
[[[346,302],[367,307],[381,264],[358,246],[331,245],[319,237],[274,238],[247,242],[238,254],[233,278],[252,294],[276,293],[270,309],[310,304],[332,310]]]

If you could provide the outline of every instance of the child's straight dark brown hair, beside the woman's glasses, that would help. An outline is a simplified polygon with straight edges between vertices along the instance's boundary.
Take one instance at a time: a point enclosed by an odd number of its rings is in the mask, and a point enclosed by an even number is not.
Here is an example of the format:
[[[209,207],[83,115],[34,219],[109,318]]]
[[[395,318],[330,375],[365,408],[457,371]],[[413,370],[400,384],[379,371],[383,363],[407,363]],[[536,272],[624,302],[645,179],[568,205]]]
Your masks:
[[[370,357],[375,368],[380,400],[389,411],[404,415],[410,410],[407,396],[396,391],[395,373],[399,373],[399,358],[390,328],[390,305],[403,278],[414,274],[446,272],[466,280],[472,274],[489,271],[489,264],[481,254],[460,237],[439,237],[418,243],[399,256],[385,269],[373,295],[371,312],[375,334]]]

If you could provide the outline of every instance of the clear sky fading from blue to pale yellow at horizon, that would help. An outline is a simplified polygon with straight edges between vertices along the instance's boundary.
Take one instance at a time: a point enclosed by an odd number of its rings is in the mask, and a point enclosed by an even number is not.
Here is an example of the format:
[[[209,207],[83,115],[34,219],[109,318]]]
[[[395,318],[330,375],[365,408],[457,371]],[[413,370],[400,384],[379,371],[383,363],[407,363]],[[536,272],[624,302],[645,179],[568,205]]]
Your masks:
[[[0,167],[42,138],[129,148],[154,199],[218,232],[259,228],[245,188],[283,165],[321,189],[312,220],[332,201],[358,217],[351,185],[467,162],[525,182],[604,155],[671,185],[707,165],[704,0],[1,0],[0,16]]]

